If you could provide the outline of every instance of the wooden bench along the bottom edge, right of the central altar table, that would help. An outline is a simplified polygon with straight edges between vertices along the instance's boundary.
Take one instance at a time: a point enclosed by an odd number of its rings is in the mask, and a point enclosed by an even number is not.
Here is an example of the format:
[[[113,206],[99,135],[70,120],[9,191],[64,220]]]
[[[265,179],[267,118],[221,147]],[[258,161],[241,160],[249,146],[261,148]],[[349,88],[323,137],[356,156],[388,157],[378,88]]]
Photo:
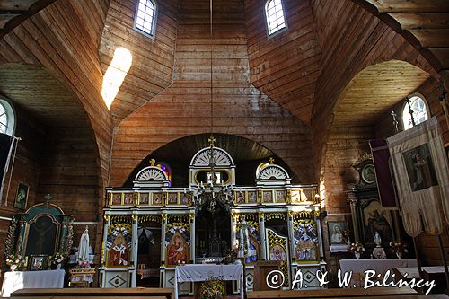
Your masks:
[[[255,298],[354,298],[354,297],[386,297],[388,295],[417,295],[418,293],[409,287],[372,287],[364,288],[328,288],[320,290],[272,290],[253,291],[247,293],[248,299]]]

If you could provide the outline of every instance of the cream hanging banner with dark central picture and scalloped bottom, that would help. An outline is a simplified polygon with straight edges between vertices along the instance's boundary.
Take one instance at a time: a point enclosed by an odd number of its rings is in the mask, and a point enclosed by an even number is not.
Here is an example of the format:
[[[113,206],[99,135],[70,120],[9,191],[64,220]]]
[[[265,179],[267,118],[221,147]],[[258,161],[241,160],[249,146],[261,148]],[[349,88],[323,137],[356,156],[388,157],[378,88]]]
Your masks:
[[[436,118],[387,139],[406,232],[443,232],[449,223],[449,166]],[[420,217],[422,216],[423,224]]]

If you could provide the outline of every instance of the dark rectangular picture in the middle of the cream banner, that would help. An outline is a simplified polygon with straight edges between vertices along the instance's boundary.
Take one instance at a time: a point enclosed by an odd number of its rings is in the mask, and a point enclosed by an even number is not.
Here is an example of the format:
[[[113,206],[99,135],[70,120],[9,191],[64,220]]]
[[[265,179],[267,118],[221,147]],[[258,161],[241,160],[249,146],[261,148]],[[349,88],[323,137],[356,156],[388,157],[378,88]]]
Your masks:
[[[402,155],[412,191],[438,185],[434,163],[427,144],[412,148]]]

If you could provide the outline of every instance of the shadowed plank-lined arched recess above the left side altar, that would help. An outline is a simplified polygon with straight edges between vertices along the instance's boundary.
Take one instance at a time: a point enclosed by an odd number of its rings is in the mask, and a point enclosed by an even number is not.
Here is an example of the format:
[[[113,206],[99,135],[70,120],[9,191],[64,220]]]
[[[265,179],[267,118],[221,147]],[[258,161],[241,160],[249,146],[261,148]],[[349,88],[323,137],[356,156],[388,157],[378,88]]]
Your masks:
[[[22,158],[15,159],[14,169],[21,169],[20,180],[31,185],[30,203],[50,193],[65,207],[70,198],[66,195],[71,194],[72,199],[101,207],[101,156],[92,123],[75,92],[43,66],[10,63],[0,66],[0,93],[17,110]],[[21,146],[29,147],[22,151]],[[14,173],[13,179],[19,180]],[[84,212],[81,205],[70,207],[74,210],[69,214],[78,207]],[[90,219],[95,215],[92,210]]]

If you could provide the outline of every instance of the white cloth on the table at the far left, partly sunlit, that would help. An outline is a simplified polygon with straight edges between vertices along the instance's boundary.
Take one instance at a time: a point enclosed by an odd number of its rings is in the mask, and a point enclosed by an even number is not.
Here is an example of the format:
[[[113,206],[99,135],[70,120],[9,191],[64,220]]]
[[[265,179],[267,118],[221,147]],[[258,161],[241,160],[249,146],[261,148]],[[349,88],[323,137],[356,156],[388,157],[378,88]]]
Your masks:
[[[13,271],[4,273],[2,297],[22,288],[64,287],[64,270]]]

